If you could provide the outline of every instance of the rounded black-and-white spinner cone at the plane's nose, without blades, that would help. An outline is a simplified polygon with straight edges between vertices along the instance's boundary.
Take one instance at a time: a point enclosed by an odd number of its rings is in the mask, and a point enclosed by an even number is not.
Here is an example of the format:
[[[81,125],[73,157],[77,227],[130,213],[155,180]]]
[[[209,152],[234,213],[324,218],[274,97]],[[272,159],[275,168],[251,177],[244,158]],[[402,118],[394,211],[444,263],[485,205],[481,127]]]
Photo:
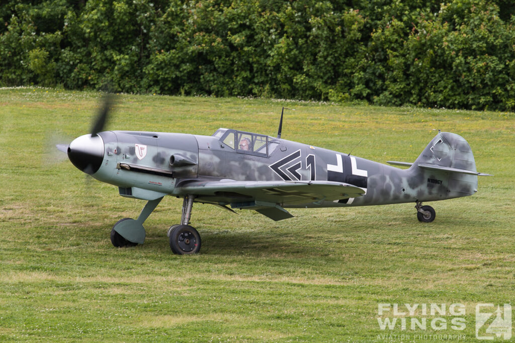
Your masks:
[[[70,143],[67,154],[75,167],[92,175],[104,160],[104,140],[99,135],[91,134],[77,137]]]

